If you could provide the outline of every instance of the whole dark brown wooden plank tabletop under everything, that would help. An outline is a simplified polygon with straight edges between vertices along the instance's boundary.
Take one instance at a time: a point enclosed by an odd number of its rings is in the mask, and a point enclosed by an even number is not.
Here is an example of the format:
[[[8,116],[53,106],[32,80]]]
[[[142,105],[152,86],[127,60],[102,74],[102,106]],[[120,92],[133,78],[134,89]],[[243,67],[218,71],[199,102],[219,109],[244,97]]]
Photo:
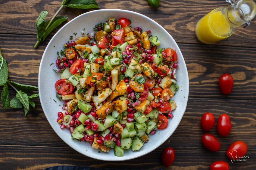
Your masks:
[[[3,110],[1,103],[0,169],[44,169],[57,165],[160,169],[164,168],[160,155],[165,147],[176,151],[175,162],[165,169],[209,169],[217,160],[228,162],[230,169],[256,169],[255,19],[250,28],[239,28],[228,39],[205,45],[195,37],[196,22],[210,10],[225,6],[223,0],[161,0],[158,10],[153,10],[146,0],[96,1],[100,9],[142,13],[162,25],[176,40],[186,61],[190,82],[188,105],[180,125],[155,151],[133,160],[106,162],[83,156],[65,144],[46,120],[39,98],[36,109],[31,109],[27,117],[23,109]],[[60,0],[0,0],[0,48],[8,63],[9,80],[38,86],[44,49],[64,24],[34,49],[36,19],[42,10],[49,12],[48,18],[52,17],[60,4]],[[69,21],[87,11],[64,8],[59,16],[67,16]],[[232,93],[227,96],[222,95],[218,87],[218,78],[223,73],[230,73],[235,81]],[[14,95],[11,90],[10,98]],[[232,121],[227,137],[217,134],[216,124],[210,131],[221,143],[216,153],[206,150],[201,143],[204,132],[200,119],[205,112],[214,113],[216,121],[219,115],[227,113]],[[226,149],[236,140],[248,145],[247,162],[231,163],[227,158]]]

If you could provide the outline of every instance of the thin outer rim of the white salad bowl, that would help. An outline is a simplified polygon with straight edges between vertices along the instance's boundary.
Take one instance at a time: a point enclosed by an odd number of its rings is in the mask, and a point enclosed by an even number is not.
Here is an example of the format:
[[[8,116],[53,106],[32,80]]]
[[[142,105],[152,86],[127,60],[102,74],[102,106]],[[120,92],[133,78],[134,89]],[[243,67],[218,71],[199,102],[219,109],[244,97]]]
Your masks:
[[[69,22],[67,22],[64,26],[62,26],[62,27],[55,33],[55,35],[52,37],[52,39],[49,41],[48,45],[46,46],[45,51],[44,51],[44,53],[43,53],[43,55],[42,55],[42,58],[41,58],[41,61],[40,61],[39,73],[38,73],[38,91],[39,91],[40,103],[41,103],[41,106],[42,106],[42,109],[43,109],[44,114],[45,114],[45,110],[46,110],[46,109],[44,108],[43,102],[42,102],[42,100],[41,100],[42,97],[41,97],[41,91],[40,91],[40,89],[41,89],[41,88],[40,88],[40,84],[41,84],[41,82],[40,82],[40,75],[41,75],[41,70],[42,70],[42,61],[43,61],[43,58],[44,58],[45,55],[46,55],[45,53],[46,53],[47,49],[50,48],[50,47],[49,47],[49,44],[55,39],[55,37],[57,36],[57,34],[58,34],[59,32],[61,32],[67,25],[69,25],[70,22],[73,22],[74,20],[76,20],[76,19],[78,19],[78,18],[80,18],[80,17],[83,17],[84,15],[87,15],[87,14],[89,14],[89,13],[101,12],[101,11],[108,11],[108,12],[109,12],[109,11],[126,12],[126,13],[136,14],[136,15],[139,15],[139,16],[144,17],[144,18],[146,18],[146,19],[149,19],[151,22],[153,22],[154,24],[156,24],[158,27],[161,27],[161,28],[164,30],[164,32],[165,32],[167,35],[169,35],[170,38],[176,43],[176,41],[175,41],[175,40],[173,39],[173,37],[169,34],[169,32],[166,31],[160,24],[158,24],[157,22],[155,22],[153,19],[149,18],[148,16],[145,16],[145,15],[143,15],[143,14],[140,14],[140,13],[137,13],[137,12],[134,12],[134,11],[130,11],[130,10],[121,10],[121,9],[100,9],[100,10],[92,10],[92,11],[83,13],[83,14],[81,14],[81,15],[79,15],[79,16],[76,16],[75,18],[73,18],[73,19],[71,19]],[[179,48],[179,46],[178,46],[177,43],[176,43],[176,45],[177,45],[177,49],[176,49],[176,50],[180,50],[180,48]],[[184,60],[184,58],[183,58],[182,53],[181,53],[181,56],[182,56],[182,57],[179,58],[179,59],[182,59],[183,62],[184,62],[184,64],[185,64],[185,66],[186,66],[186,63],[185,63],[185,60]],[[186,77],[187,77],[187,79],[188,79],[188,81],[187,81],[187,83],[186,83],[186,86],[188,87],[188,91],[187,91],[187,93],[186,93],[186,105],[184,105],[185,108],[186,108],[186,107],[187,107],[187,103],[188,103],[188,97],[189,97],[189,76],[188,76],[187,67],[183,67],[183,69],[185,69]],[[183,115],[184,115],[185,111],[186,111],[186,109],[185,109],[184,112],[182,113]],[[142,154],[138,154],[138,155],[134,154],[134,157],[132,157],[132,158],[131,158],[131,157],[125,158],[125,156],[124,156],[124,157],[117,157],[117,158],[114,159],[114,160],[113,160],[113,159],[95,158],[95,157],[93,157],[93,156],[91,156],[91,155],[89,155],[89,154],[86,154],[86,153],[82,152],[82,151],[79,150],[79,149],[73,148],[73,147],[71,146],[71,143],[69,144],[69,143],[65,142],[65,141],[64,141],[64,137],[60,136],[60,135],[56,132],[55,126],[54,126],[54,124],[51,123],[51,121],[49,121],[50,119],[48,118],[48,115],[47,115],[47,114],[45,114],[45,117],[47,118],[47,121],[49,122],[49,124],[51,125],[51,127],[52,127],[52,129],[55,131],[55,133],[56,133],[67,145],[69,145],[72,149],[74,149],[75,151],[79,152],[80,154],[83,154],[83,155],[85,155],[85,156],[87,156],[87,157],[90,157],[90,158],[93,158],[93,159],[103,160],[103,161],[124,161],[124,160],[132,160],[132,159],[141,157],[141,156],[146,155],[146,154],[148,154],[148,153],[154,151],[155,149],[157,149],[157,148],[158,148],[160,145],[162,145],[167,139],[169,139],[170,136],[174,133],[174,131],[175,131],[175,130],[177,129],[177,127],[179,126],[180,121],[181,121],[182,118],[183,118],[183,115],[182,115],[181,119],[178,121],[179,123],[176,124],[175,128],[173,129],[173,131],[172,131],[168,136],[166,136],[165,139],[164,139],[160,144],[156,145],[154,148],[152,148],[152,149],[150,149],[150,150],[148,150],[148,151],[146,151],[145,153],[142,153]],[[163,138],[162,138],[162,139],[163,139]]]

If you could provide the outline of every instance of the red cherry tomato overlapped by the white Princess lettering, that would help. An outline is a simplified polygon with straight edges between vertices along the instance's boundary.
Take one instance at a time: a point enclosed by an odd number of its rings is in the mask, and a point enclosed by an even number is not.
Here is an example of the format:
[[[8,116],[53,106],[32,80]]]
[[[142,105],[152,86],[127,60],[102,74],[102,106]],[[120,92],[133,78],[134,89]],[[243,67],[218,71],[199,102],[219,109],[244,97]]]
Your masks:
[[[236,141],[236,142],[233,142],[229,146],[226,154],[229,159],[236,160],[236,159],[240,159],[241,157],[245,156],[247,149],[248,149],[248,147],[245,144],[245,142]]]

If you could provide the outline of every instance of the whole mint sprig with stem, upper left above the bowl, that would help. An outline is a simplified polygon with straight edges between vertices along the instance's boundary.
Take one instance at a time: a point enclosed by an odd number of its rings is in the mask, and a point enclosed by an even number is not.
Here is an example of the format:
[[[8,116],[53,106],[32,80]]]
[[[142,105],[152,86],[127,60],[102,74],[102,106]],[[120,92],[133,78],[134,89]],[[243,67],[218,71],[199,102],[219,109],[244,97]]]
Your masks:
[[[91,8],[99,8],[98,4],[95,0],[63,0],[61,7],[54,14],[51,20],[47,20],[45,22],[45,18],[48,15],[47,11],[42,11],[38,19],[36,21],[36,32],[37,32],[37,42],[34,45],[34,48],[37,48],[40,42],[43,42],[46,37],[62,22],[64,22],[67,17],[58,16],[58,13],[62,10],[63,7],[70,8],[79,8],[79,9],[91,9]]]

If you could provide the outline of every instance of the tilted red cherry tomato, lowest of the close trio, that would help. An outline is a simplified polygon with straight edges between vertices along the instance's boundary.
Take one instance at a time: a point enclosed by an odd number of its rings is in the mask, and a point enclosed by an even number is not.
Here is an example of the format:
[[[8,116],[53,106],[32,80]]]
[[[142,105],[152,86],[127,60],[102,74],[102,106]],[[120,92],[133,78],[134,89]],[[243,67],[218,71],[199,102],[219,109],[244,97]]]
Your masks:
[[[202,136],[202,142],[209,151],[217,152],[220,149],[220,142],[212,134],[206,133]]]

